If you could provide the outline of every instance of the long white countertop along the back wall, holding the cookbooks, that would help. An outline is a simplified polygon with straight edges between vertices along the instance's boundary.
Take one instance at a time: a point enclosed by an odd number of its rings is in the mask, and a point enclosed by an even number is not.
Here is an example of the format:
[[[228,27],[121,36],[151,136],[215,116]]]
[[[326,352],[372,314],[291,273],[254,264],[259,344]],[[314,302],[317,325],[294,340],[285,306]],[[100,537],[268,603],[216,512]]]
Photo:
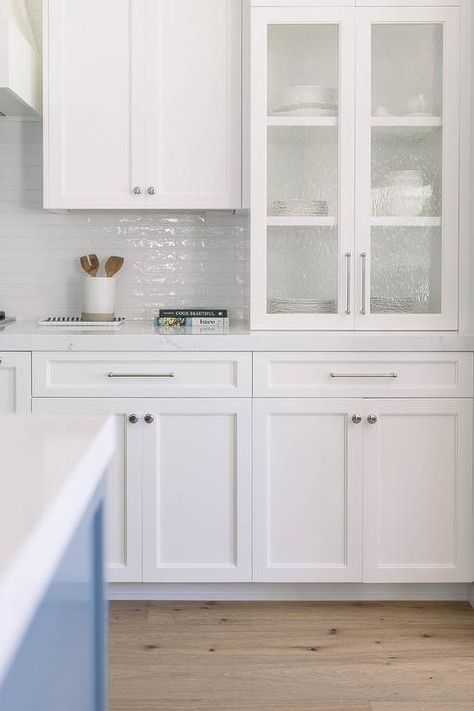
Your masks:
[[[152,321],[116,330],[38,326],[0,327],[0,351],[474,351],[474,333],[429,331],[249,331],[213,335],[158,331]]]

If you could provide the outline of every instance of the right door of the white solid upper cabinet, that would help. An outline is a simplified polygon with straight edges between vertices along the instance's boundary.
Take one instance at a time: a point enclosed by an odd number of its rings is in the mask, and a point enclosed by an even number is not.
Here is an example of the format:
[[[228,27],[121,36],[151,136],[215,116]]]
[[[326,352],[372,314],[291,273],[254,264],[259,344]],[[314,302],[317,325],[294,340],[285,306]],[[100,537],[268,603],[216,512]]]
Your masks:
[[[147,0],[146,204],[241,205],[241,0]]]

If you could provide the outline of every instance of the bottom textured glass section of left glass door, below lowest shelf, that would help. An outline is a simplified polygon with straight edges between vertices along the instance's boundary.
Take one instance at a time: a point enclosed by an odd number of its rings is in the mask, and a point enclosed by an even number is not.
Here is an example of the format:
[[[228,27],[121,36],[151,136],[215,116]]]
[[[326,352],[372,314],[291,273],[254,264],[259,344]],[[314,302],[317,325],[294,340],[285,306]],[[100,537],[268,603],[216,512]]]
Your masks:
[[[269,227],[268,313],[337,313],[335,227]]]

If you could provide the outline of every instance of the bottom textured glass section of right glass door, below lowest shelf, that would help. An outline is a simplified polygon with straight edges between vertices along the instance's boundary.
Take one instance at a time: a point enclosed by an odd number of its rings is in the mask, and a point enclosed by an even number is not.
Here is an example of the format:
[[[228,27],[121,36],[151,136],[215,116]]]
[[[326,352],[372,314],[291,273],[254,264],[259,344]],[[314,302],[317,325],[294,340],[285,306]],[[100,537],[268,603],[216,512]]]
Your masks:
[[[441,313],[441,229],[373,227],[372,313]]]

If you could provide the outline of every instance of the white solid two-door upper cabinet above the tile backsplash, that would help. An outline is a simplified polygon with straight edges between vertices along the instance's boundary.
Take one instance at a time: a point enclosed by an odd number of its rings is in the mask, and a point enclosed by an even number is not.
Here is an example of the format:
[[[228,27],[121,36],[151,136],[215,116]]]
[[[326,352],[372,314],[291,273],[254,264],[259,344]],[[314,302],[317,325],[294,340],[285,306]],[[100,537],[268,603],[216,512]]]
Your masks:
[[[44,14],[46,208],[240,207],[240,0]]]

